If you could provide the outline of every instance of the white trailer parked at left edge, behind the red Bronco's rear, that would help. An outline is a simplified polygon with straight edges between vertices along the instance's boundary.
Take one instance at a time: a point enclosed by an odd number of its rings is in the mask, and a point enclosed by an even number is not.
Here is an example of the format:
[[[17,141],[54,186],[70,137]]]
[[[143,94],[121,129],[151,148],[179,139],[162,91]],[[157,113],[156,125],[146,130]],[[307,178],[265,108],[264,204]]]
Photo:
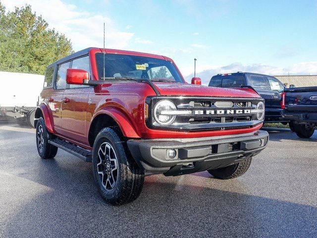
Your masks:
[[[0,71],[0,118],[13,117],[18,124],[34,127],[44,75]]]

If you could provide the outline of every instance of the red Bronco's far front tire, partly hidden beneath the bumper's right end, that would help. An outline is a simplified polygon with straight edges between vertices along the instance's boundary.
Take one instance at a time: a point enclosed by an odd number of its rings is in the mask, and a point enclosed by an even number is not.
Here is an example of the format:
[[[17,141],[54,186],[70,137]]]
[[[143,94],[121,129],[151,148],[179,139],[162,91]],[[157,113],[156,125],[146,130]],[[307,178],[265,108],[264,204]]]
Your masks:
[[[215,170],[208,170],[208,173],[217,179],[235,179],[247,172],[251,165],[251,161],[252,157],[234,165]]]

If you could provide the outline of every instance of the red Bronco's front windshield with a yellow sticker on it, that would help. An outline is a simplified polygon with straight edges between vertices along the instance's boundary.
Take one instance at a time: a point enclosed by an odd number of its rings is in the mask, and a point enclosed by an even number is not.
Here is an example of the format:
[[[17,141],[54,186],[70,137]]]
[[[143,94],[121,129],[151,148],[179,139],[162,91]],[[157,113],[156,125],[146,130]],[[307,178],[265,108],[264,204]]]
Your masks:
[[[104,54],[96,55],[99,79],[104,77]],[[167,60],[151,57],[105,54],[106,78],[151,79],[153,81],[168,81],[183,83],[182,77]]]

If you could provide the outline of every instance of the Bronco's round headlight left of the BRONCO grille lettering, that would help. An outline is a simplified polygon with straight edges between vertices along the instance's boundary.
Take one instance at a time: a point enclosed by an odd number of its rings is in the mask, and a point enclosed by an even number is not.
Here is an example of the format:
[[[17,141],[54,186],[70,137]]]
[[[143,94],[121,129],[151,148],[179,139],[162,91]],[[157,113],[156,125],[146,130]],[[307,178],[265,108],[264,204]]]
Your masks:
[[[176,106],[169,100],[159,101],[154,108],[154,119],[161,125],[170,125],[176,119],[175,115],[161,115],[163,111],[176,111]]]

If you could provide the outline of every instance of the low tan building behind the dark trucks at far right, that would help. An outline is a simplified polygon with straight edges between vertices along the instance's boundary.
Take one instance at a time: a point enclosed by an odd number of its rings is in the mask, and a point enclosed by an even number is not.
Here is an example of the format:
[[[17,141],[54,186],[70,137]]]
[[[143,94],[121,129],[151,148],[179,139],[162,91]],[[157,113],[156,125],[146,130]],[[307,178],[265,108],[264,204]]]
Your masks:
[[[317,75],[277,75],[274,76],[287,87],[294,84],[295,87],[317,86]]]

